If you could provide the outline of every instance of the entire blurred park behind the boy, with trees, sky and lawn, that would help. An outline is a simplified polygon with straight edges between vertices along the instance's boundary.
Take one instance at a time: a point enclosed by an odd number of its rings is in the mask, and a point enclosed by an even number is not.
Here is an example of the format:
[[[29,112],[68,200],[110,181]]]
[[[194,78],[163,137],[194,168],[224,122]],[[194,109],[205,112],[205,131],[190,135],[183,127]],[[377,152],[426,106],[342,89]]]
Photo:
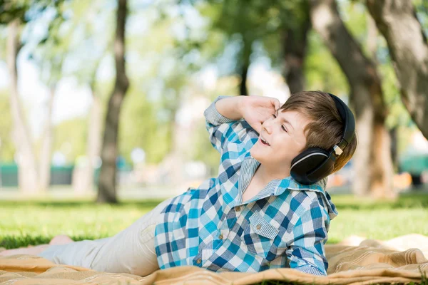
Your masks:
[[[300,90],[357,120],[330,242],[428,234],[427,33],[424,0],[0,0],[0,247],[115,234],[217,175],[218,95]]]

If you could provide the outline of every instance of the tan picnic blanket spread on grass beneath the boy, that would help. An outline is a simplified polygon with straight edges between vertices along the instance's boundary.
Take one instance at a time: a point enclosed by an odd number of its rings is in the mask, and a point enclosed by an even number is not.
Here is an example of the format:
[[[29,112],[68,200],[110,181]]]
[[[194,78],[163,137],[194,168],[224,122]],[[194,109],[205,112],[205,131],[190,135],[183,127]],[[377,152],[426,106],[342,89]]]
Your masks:
[[[428,276],[428,237],[409,234],[387,242],[345,239],[326,246],[328,276],[312,276],[294,269],[259,273],[215,273],[195,266],[158,270],[141,277],[111,274],[77,266],[57,265],[41,257],[0,257],[0,284],[255,284],[282,280],[300,284],[373,284],[420,282]]]

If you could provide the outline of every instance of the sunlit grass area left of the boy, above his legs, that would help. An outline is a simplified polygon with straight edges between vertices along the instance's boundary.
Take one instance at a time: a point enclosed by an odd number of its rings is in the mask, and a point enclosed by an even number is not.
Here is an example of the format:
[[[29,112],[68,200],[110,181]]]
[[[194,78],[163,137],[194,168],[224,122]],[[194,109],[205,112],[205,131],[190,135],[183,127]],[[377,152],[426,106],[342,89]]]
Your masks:
[[[0,247],[45,244],[58,234],[72,239],[109,237],[131,225],[161,202],[0,201]]]

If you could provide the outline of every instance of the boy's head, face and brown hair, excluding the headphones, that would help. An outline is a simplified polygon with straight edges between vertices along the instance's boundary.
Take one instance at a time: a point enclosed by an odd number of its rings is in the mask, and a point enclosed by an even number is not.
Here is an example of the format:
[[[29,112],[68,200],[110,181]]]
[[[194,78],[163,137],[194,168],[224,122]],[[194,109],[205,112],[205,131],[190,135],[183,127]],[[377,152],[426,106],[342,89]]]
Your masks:
[[[328,93],[295,93],[272,118],[265,120],[260,139],[252,148],[251,155],[278,170],[286,169],[290,167],[291,161],[308,147],[332,150],[332,147],[340,142],[343,128],[335,101]],[[342,155],[336,158],[333,172],[345,166],[356,147],[357,138],[354,136]]]

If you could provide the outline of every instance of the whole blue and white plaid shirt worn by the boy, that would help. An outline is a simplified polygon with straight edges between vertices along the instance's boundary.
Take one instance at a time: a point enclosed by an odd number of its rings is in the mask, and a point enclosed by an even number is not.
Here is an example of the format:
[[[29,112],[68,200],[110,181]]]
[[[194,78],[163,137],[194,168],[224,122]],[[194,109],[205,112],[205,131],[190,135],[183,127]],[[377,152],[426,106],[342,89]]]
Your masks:
[[[258,133],[245,120],[205,110],[210,140],[220,152],[218,177],[173,198],[156,226],[161,269],[193,265],[212,271],[258,272],[291,267],[326,275],[324,244],[337,215],[327,180],[301,185],[292,177],[272,180],[243,202],[260,162],[250,155]]]

